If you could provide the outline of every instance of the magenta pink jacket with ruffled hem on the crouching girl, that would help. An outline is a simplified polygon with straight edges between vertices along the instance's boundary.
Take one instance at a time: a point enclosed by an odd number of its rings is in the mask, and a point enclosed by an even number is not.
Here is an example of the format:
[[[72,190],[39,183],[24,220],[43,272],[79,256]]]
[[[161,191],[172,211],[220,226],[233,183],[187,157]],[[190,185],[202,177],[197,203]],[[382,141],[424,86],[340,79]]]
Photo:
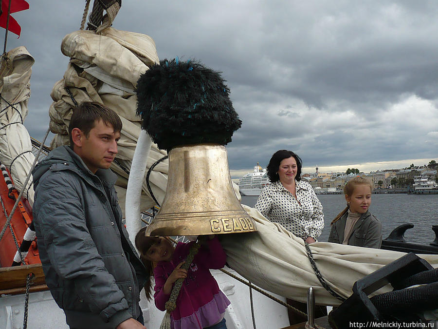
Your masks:
[[[159,310],[165,310],[165,303],[170,297],[163,292],[164,283],[175,267],[187,257],[193,243],[178,243],[172,260],[158,262],[155,267],[154,299]],[[209,269],[221,269],[225,261],[226,255],[217,237],[208,240],[206,246],[199,249],[187,271],[187,278],[177,298],[177,307],[170,314],[172,328],[205,328],[222,319],[230,301],[219,290]]]

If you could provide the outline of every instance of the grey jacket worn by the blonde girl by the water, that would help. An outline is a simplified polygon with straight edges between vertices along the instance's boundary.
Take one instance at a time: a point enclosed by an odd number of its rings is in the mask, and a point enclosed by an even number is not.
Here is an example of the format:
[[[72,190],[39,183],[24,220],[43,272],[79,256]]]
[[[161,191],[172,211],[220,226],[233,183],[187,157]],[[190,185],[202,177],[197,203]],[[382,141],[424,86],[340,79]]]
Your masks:
[[[333,223],[328,242],[342,244],[347,216],[348,212]],[[353,232],[348,238],[348,245],[380,249],[382,246],[382,223],[367,210],[354,224]]]

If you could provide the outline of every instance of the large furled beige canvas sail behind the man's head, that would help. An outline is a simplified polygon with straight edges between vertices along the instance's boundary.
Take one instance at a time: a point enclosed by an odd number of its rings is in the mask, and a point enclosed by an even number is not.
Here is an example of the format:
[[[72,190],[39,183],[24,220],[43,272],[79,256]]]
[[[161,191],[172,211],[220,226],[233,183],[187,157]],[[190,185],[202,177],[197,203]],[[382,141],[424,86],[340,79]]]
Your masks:
[[[136,115],[137,80],[149,66],[159,63],[155,43],[149,36],[119,31],[109,27],[96,34],[94,31],[75,31],[61,43],[62,53],[70,58],[63,79],[55,83],[49,109],[50,129],[55,134],[51,148],[69,145],[68,126],[75,104],[96,101],[114,110],[121,118],[123,128],[118,142],[118,154],[111,169],[119,179],[116,182],[120,207],[125,213],[125,195],[128,176],[137,140],[141,131],[140,117]],[[152,144],[147,170],[166,155]],[[161,202],[167,184],[167,159],[154,167],[149,183],[155,198]],[[146,186],[142,186],[141,210],[155,202]]]

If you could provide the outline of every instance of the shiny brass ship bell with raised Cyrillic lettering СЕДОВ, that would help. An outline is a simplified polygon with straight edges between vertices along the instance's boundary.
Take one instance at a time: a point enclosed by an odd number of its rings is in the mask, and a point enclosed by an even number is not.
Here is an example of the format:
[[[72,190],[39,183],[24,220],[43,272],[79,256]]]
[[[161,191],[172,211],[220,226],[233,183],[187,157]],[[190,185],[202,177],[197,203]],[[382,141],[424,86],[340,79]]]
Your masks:
[[[255,222],[234,192],[224,146],[197,144],[170,150],[166,194],[146,236],[254,231]]]

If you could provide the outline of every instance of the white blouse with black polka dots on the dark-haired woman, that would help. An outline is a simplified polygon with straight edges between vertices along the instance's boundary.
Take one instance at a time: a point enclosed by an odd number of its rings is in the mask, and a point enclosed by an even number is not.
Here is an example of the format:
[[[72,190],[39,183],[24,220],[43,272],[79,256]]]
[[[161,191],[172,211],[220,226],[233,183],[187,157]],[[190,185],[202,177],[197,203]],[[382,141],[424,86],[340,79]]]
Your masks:
[[[296,181],[296,197],[280,181],[266,185],[254,206],[263,216],[305,240],[316,238],[324,228],[321,202],[308,182]]]

